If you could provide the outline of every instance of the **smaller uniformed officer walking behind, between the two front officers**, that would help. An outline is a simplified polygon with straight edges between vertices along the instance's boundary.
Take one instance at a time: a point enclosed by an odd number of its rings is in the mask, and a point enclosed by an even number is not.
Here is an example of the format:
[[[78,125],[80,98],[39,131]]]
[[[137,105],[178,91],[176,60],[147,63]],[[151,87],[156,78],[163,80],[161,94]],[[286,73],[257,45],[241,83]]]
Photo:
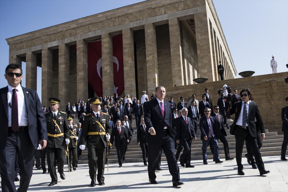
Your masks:
[[[68,127],[69,127],[69,134],[70,134],[70,142],[68,145],[68,152],[69,155],[67,155],[67,162],[69,162],[69,171],[71,171],[71,154],[72,154],[72,166],[73,170],[76,170],[76,165],[77,165],[77,140],[79,138],[79,132],[77,129],[77,126],[73,126],[73,116],[69,115],[68,116]],[[67,151],[67,145],[66,145],[66,151]],[[68,158],[69,157],[69,158]]]

